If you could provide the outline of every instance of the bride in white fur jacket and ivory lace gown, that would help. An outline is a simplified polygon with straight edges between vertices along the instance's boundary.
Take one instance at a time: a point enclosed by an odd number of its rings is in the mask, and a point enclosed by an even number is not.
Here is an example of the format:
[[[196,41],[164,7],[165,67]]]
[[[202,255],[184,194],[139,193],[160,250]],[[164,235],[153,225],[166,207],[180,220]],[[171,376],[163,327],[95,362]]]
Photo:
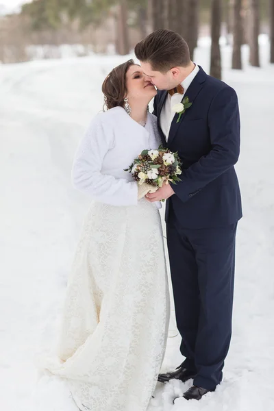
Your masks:
[[[58,361],[86,411],[145,411],[166,347],[169,290],[158,208],[125,172],[143,149],[157,149],[156,90],[129,60],[103,82],[107,111],[80,142],[73,184],[92,204],[69,276]]]

